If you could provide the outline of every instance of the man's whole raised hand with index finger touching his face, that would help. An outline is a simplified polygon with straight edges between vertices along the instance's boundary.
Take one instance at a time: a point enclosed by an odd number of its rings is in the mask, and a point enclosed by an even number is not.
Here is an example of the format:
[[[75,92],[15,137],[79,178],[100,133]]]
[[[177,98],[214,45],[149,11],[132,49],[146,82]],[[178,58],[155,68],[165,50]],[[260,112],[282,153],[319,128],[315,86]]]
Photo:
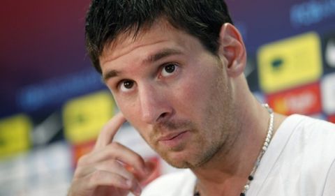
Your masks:
[[[124,121],[119,113],[106,123],[93,151],[78,161],[68,196],[140,195],[140,181],[149,176],[153,167],[131,149],[113,142]],[[125,164],[132,169],[127,170]]]

